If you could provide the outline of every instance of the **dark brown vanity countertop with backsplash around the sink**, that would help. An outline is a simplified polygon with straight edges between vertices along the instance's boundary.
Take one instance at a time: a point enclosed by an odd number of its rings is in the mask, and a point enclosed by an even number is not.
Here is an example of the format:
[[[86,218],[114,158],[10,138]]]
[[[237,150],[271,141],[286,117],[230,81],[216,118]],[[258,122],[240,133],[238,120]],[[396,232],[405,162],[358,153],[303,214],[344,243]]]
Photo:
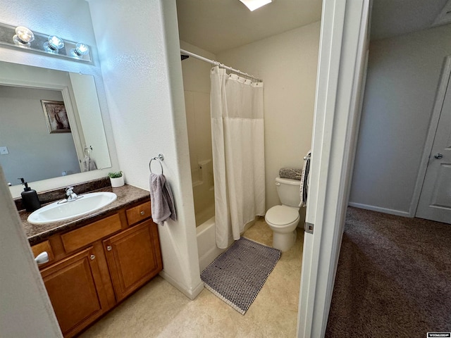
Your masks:
[[[106,182],[107,184],[109,184],[108,177],[106,177]],[[35,245],[38,244],[39,242],[43,242],[44,240],[51,237],[51,235],[53,234],[77,229],[78,227],[82,227],[89,223],[95,222],[96,220],[104,218],[106,215],[114,213],[121,208],[131,206],[132,204],[137,204],[138,202],[149,201],[150,199],[149,192],[147,192],[147,190],[144,189],[133,187],[128,184],[125,184],[123,187],[118,188],[112,188],[109,185],[101,187],[101,185],[103,184],[104,184],[103,179],[101,179],[75,185],[74,192],[76,192],[77,194],[80,194],[80,191],[81,194],[86,192],[113,192],[118,196],[116,201],[109,204],[108,206],[105,206],[104,208],[101,208],[92,213],[88,213],[87,215],[83,215],[80,218],[73,218],[71,220],[64,220],[61,222],[36,225],[27,222],[27,217],[30,215],[30,213],[27,213],[25,210],[20,210],[19,211],[20,220],[22,221],[23,229],[25,230],[25,234],[28,238],[28,242],[30,242],[30,245]],[[92,190],[88,189],[88,187],[90,188],[97,187],[97,189]],[[62,195],[61,191],[63,192]],[[38,194],[39,200],[41,200],[42,195],[46,196],[46,198],[48,197],[49,199],[51,199],[49,196],[55,197],[54,199],[46,200],[47,203],[57,201],[58,199],[66,198],[66,194],[64,194],[64,189],[57,189],[53,192],[45,192],[42,194]]]

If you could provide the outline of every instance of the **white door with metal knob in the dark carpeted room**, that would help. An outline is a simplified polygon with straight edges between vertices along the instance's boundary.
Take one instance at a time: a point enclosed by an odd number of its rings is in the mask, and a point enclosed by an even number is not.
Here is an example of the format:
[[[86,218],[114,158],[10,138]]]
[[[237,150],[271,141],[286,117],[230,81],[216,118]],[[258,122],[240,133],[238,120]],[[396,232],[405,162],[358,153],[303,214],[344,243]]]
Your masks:
[[[451,223],[451,89],[450,73],[445,71],[447,90],[445,98],[435,104],[440,107],[440,118],[415,216]]]

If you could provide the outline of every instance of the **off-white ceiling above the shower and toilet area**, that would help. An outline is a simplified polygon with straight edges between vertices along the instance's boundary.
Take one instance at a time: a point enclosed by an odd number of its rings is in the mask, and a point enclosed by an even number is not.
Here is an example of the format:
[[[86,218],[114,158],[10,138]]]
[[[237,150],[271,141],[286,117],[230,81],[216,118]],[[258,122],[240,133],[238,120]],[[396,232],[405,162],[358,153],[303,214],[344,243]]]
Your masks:
[[[251,12],[238,0],[177,0],[180,39],[217,54],[321,19],[321,0],[273,0]]]

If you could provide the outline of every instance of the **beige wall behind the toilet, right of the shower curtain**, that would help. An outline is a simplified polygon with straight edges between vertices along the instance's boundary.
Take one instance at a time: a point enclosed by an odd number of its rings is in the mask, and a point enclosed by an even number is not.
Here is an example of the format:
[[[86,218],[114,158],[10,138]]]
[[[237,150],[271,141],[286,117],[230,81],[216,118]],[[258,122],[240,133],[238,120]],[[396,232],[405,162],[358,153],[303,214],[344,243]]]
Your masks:
[[[319,30],[316,22],[218,54],[264,80],[266,209],[280,204],[278,170],[302,168],[311,147]]]

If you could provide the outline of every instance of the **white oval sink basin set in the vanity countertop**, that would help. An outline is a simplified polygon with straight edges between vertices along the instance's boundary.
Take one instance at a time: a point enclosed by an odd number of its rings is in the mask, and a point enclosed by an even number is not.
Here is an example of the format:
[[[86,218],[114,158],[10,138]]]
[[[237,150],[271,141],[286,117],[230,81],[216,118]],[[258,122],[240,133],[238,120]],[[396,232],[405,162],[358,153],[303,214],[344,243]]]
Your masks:
[[[92,192],[90,194],[80,194],[78,197],[79,199],[75,201],[58,201],[48,206],[43,206],[31,213],[27,221],[32,224],[61,222],[61,220],[68,220],[69,218],[92,213],[92,211],[108,206],[113,201],[116,201],[117,198],[113,192]]]

